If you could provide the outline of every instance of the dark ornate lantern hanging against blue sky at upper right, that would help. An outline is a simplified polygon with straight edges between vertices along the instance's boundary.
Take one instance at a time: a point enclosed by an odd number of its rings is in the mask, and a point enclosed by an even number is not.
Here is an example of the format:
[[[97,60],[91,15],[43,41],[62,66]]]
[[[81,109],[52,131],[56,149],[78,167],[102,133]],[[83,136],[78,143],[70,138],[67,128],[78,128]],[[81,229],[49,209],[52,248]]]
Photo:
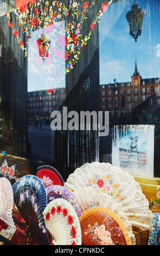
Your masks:
[[[131,8],[132,10],[126,14],[126,19],[129,23],[130,35],[135,39],[135,41],[137,41],[137,38],[142,31],[142,22],[145,10],[138,8],[138,4],[135,2]]]

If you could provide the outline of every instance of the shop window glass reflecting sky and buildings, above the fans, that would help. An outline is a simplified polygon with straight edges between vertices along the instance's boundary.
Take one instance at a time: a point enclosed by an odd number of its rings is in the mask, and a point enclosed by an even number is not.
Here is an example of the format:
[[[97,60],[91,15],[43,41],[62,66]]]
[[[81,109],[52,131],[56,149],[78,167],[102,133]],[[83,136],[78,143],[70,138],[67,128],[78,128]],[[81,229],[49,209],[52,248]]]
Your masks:
[[[62,2],[8,1],[0,9],[1,150],[28,161],[26,172],[49,164],[66,180],[86,162],[113,164],[121,134],[148,125],[150,175],[160,177],[159,1]],[[148,175],[148,154],[136,143],[139,175]],[[127,147],[117,154],[124,168]]]

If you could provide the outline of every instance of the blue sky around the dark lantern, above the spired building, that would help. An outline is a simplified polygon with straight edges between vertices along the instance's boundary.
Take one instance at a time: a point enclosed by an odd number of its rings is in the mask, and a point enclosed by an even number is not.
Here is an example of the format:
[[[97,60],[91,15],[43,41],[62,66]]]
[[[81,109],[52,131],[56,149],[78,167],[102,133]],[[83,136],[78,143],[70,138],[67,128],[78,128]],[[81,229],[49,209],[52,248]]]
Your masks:
[[[159,77],[160,57],[157,56],[159,34],[159,0],[136,0],[138,8],[145,10],[142,34],[137,42],[129,33],[126,13],[133,0],[122,0],[108,6],[99,23],[100,84],[129,82],[137,68],[142,78]]]

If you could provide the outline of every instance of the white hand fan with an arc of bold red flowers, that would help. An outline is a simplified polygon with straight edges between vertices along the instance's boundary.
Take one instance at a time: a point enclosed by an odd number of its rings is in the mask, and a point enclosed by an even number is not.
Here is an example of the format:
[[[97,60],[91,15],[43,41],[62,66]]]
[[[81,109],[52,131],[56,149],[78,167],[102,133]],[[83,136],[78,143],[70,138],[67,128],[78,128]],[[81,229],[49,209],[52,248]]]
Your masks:
[[[43,216],[54,245],[81,245],[79,218],[67,200],[52,200],[44,209]]]

